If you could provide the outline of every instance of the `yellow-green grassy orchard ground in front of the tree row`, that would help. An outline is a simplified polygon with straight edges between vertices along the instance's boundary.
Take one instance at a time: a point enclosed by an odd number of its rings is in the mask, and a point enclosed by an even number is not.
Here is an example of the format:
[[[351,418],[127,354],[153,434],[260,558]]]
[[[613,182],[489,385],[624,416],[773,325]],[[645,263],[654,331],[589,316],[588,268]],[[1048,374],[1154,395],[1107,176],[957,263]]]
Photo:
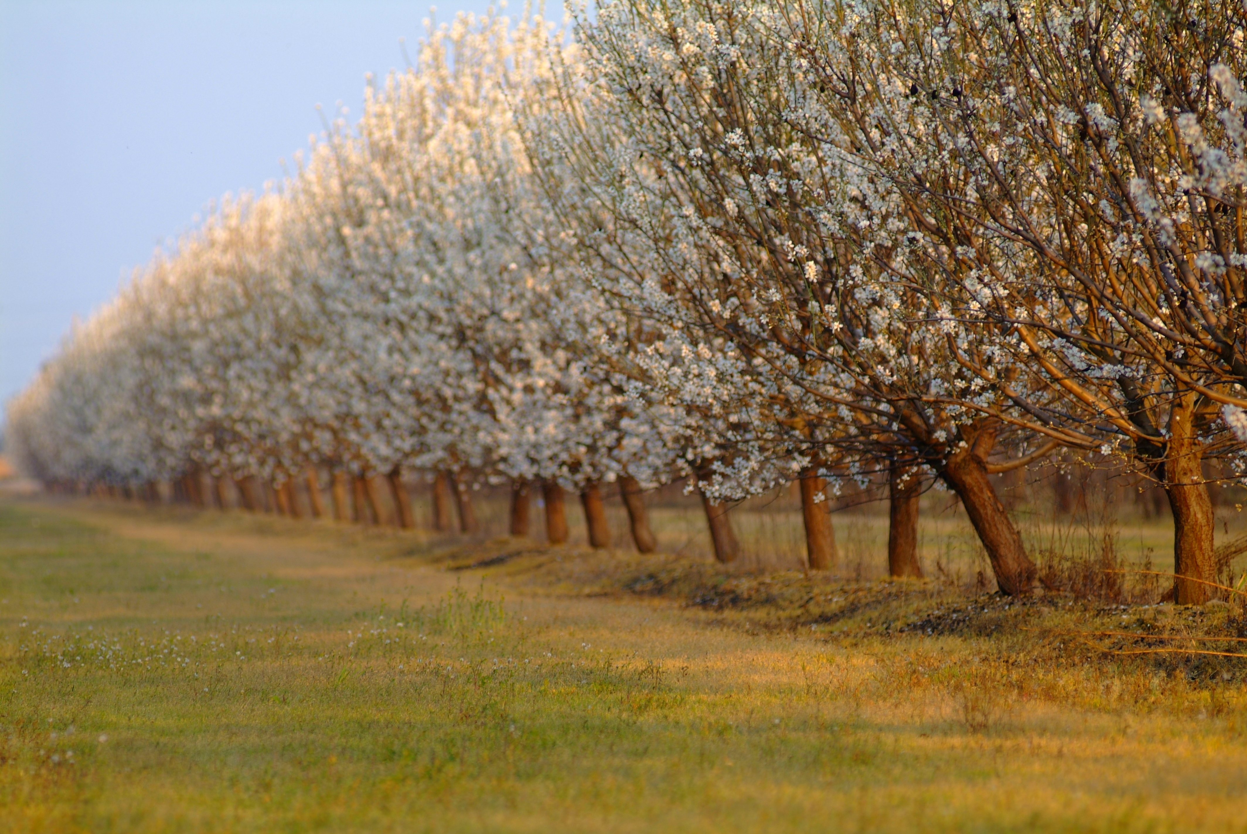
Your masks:
[[[0,497],[0,830],[1247,832],[1243,661],[1052,638],[1226,611],[451,547]]]

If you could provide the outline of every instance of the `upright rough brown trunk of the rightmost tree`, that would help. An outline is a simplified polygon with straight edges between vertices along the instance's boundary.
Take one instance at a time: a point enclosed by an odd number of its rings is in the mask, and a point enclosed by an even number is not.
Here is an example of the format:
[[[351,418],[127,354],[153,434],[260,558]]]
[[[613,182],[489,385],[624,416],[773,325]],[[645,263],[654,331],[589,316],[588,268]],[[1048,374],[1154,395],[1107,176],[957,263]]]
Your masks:
[[[1217,581],[1212,501],[1203,482],[1203,449],[1195,436],[1196,398],[1195,393],[1183,393],[1171,406],[1165,454],[1165,492],[1173,510],[1173,601],[1178,605],[1207,602],[1215,588],[1203,582]]]

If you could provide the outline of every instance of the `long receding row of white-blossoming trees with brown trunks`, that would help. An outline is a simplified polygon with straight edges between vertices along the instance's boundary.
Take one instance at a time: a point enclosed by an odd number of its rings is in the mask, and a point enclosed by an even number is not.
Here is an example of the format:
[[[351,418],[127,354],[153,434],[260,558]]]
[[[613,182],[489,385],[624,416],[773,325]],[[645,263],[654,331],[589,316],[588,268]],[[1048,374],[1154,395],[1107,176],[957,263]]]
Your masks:
[[[612,0],[565,40],[460,16],[262,196],[226,199],[9,406],[64,489],[334,506],[435,475],[565,489],[605,545],[687,479],[726,506],[887,481],[959,496],[1006,593],[993,472],[1056,449],[1167,492],[1175,598],[1216,576],[1210,471],[1247,440],[1243,11],[1176,0]],[[1218,464],[1213,470],[1210,464]],[[283,499],[283,495],[286,496]],[[373,496],[375,501],[375,496]],[[340,512],[340,510],[339,510]]]

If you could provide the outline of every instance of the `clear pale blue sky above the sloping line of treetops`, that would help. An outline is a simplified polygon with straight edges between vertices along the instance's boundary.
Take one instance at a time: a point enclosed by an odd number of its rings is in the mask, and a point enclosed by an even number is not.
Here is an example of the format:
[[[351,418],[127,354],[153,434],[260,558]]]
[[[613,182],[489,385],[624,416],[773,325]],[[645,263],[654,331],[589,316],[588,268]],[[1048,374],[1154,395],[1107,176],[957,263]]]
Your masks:
[[[430,5],[0,0],[0,403],[211,199],[279,178],[318,103],[357,116]]]

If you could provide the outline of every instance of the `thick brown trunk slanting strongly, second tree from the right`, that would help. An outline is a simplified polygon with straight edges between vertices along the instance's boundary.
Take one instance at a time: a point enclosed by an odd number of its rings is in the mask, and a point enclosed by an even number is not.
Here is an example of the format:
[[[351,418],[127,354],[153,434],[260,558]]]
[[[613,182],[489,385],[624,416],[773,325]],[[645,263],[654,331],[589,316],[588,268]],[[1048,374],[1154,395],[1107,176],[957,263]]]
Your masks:
[[[988,476],[988,454],[996,443],[998,428],[989,421],[964,426],[959,435],[965,444],[949,455],[939,475],[961,499],[988,551],[996,585],[1004,593],[1019,596],[1034,590],[1039,571]]]

